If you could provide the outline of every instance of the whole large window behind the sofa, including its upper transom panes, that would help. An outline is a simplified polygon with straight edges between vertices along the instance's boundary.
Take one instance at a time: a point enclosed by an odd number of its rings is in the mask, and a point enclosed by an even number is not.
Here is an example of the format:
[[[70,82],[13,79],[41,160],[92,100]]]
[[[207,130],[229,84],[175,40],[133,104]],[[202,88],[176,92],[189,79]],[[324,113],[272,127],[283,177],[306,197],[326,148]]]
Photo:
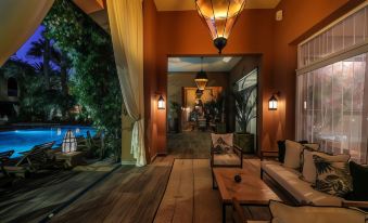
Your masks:
[[[300,44],[296,79],[297,140],[360,163],[368,139],[367,13],[357,10]]]

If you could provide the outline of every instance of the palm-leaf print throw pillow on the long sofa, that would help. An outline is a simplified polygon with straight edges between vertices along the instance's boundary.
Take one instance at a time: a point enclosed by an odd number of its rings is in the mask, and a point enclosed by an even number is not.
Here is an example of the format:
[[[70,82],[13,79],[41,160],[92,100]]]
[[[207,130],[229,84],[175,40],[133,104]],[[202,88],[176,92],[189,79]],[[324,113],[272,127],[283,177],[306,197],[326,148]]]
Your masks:
[[[352,189],[352,176],[348,162],[330,161],[313,155],[317,170],[315,189],[338,197],[345,197]]]

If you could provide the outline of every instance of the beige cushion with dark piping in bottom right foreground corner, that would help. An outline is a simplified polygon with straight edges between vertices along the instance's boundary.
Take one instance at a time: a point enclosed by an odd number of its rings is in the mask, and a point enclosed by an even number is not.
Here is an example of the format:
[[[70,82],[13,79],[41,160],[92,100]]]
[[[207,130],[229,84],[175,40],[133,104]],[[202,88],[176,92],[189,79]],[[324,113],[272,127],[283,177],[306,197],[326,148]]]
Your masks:
[[[356,209],[333,207],[291,207],[271,200],[271,223],[365,223],[366,213]]]

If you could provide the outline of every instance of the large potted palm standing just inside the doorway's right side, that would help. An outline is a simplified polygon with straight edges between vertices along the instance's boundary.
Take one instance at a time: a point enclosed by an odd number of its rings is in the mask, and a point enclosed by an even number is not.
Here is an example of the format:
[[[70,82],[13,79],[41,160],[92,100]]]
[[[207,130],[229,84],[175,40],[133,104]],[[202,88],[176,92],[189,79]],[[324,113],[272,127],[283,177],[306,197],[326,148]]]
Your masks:
[[[234,91],[236,121],[239,132],[234,135],[234,143],[242,148],[243,153],[254,153],[254,134],[246,131],[252,119],[256,118],[257,86],[251,86],[241,91]]]

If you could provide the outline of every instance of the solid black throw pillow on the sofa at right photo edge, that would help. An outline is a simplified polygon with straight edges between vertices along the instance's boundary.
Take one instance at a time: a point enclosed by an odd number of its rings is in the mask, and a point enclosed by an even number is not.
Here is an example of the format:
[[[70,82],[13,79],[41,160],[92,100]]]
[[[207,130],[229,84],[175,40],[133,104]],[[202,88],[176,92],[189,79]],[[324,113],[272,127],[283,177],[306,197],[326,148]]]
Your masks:
[[[351,161],[350,170],[353,178],[353,192],[348,199],[368,201],[368,167]]]

